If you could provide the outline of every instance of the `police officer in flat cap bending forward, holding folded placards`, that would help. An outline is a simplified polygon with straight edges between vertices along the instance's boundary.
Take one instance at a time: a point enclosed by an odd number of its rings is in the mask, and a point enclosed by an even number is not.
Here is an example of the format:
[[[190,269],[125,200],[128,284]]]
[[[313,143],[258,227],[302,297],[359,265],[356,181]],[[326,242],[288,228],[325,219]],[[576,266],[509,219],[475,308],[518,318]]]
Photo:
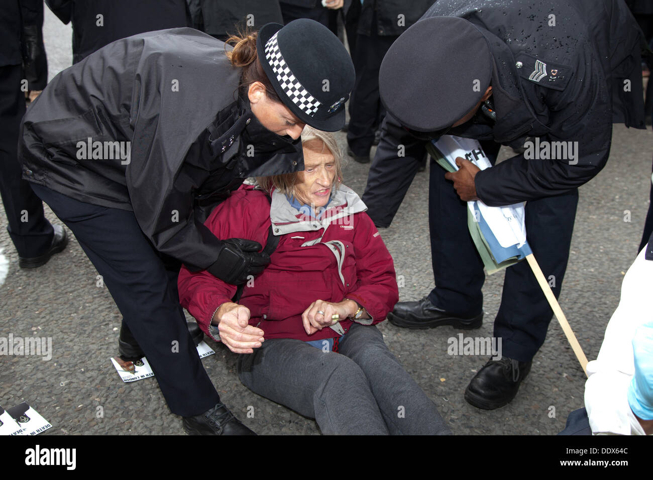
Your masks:
[[[489,146],[488,156],[500,144],[523,143],[528,136],[572,149],[566,155],[542,150],[531,159],[522,153],[483,171],[460,159],[460,170],[446,178],[433,165],[429,217],[436,287],[420,301],[397,304],[389,315],[394,325],[481,326],[485,276],[468,232],[468,200],[489,206],[527,201],[528,242],[560,295],[577,187],[605,165],[613,121],[644,127],[643,46],[623,0],[440,0],[394,42],[379,79],[389,116],[363,196],[377,226],[392,221],[429,138],[477,138]],[[483,409],[510,402],[551,318],[528,264],[508,268],[494,322],[503,357],[479,370],[466,400]]]

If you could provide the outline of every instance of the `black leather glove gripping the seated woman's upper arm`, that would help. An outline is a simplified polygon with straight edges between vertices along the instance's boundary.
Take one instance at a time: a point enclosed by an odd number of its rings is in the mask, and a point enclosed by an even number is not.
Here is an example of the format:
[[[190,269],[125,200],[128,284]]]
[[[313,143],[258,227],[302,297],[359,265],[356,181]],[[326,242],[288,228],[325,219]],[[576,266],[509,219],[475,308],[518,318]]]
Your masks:
[[[210,274],[232,285],[246,283],[247,276],[257,276],[270,263],[270,255],[260,251],[259,242],[245,238],[222,240],[217,260],[208,270]]]

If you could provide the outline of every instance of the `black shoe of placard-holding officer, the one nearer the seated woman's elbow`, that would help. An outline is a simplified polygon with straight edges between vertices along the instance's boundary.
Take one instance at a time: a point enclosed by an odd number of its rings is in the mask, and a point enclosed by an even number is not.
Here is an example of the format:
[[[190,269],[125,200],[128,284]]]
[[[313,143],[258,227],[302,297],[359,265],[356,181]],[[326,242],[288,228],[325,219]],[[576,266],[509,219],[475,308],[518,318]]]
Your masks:
[[[435,328],[451,325],[462,330],[471,330],[483,325],[483,312],[471,318],[454,317],[451,313],[442,312],[433,306],[428,296],[417,302],[400,302],[394,310],[388,313],[392,325],[402,328]]]

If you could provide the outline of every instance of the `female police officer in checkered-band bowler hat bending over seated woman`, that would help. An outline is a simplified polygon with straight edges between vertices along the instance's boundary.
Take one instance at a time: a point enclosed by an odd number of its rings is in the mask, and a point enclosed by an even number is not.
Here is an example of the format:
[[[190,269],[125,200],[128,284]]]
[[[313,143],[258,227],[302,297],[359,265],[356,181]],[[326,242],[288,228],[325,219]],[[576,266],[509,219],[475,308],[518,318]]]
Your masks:
[[[25,180],[74,232],[196,434],[252,432],[202,368],[165,261],[228,283],[260,273],[259,244],[202,222],[248,176],[302,170],[304,125],[342,128],[354,82],[342,44],[311,20],[232,43],[182,28],[109,44],[52,80],[19,146]]]

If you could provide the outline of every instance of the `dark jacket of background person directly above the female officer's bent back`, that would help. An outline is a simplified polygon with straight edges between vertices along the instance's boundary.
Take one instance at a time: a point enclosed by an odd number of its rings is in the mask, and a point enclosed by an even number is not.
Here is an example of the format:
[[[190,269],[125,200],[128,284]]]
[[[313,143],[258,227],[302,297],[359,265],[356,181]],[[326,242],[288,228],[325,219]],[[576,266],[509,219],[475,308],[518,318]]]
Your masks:
[[[186,0],[46,0],[64,24],[72,20],[72,63],[114,40],[146,31],[190,27]]]

